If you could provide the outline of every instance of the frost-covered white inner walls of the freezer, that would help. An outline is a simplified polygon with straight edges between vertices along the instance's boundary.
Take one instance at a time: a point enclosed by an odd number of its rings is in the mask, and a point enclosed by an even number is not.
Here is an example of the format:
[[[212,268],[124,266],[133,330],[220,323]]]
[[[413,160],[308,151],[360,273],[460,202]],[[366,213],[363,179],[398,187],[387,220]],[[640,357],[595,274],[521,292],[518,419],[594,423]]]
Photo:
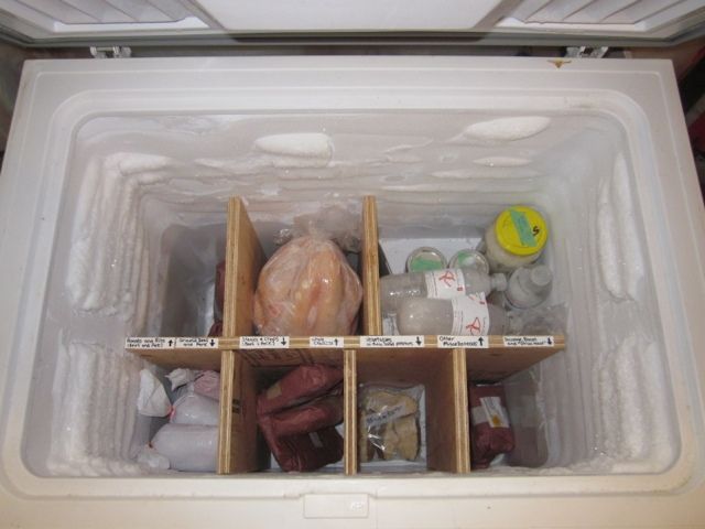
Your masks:
[[[39,475],[142,475],[128,335],[213,319],[227,198],[265,250],[304,213],[378,199],[381,237],[478,237],[505,206],[546,215],[568,346],[507,381],[518,438],[486,473],[659,472],[677,452],[629,138],[596,111],[99,117],[65,169],[24,457]]]

